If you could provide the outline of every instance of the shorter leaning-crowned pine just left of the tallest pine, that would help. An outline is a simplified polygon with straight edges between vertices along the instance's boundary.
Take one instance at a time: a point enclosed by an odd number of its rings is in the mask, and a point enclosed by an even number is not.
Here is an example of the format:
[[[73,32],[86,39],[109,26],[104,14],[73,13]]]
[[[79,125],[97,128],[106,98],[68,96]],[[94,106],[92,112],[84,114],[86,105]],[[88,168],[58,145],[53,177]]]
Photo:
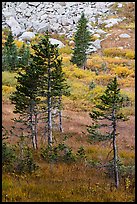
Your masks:
[[[40,102],[38,96],[41,87],[40,76],[43,74],[40,67],[32,61],[23,72],[18,72],[16,91],[10,97],[12,104],[15,104],[14,112],[20,114],[19,121],[26,124],[31,131],[34,149],[37,149],[37,116]]]

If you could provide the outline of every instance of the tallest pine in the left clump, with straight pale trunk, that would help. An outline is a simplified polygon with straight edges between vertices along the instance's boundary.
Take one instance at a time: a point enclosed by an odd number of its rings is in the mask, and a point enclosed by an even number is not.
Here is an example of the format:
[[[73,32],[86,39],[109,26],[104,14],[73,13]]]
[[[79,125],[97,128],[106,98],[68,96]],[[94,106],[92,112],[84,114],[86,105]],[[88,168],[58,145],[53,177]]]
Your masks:
[[[53,108],[55,107],[57,97],[60,98],[64,94],[64,90],[67,89],[65,85],[65,78],[62,72],[62,59],[59,58],[58,45],[52,45],[49,41],[48,32],[41,38],[38,45],[33,45],[32,48],[35,51],[33,60],[37,66],[41,66],[43,69],[43,76],[41,76],[41,96],[45,97],[46,106],[45,114],[47,114],[47,133],[48,133],[48,145],[52,146],[52,125],[53,125]],[[61,106],[60,106],[61,108]],[[46,129],[46,127],[45,127]]]

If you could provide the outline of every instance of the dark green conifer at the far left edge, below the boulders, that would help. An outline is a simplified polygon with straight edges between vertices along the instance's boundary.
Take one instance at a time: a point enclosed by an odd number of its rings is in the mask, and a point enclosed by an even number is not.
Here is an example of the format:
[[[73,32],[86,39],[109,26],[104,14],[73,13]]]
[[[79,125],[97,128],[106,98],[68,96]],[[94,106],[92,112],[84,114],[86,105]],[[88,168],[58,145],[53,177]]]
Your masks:
[[[14,43],[12,32],[9,32],[2,52],[2,70],[15,71],[18,67],[18,51]]]

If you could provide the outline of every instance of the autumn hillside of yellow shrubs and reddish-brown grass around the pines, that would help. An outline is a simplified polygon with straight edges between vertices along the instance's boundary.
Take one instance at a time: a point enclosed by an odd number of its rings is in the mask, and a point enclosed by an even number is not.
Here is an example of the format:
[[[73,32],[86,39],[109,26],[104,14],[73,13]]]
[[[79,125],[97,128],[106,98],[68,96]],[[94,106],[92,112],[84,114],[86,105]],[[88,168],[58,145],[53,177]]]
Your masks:
[[[89,21],[94,32],[93,46],[88,54],[86,70],[79,69],[70,62],[74,48],[74,34],[50,32],[52,38],[64,44],[62,48],[59,48],[59,53],[63,59],[62,68],[71,91],[70,96],[63,96],[62,133],[59,132],[55,120],[54,144],[60,144],[66,137],[64,143],[72,150],[70,156],[75,156],[78,149],[83,147],[86,159],[81,158],[76,162],[73,160],[72,162],[49,162],[44,159],[41,155],[42,149],[47,146],[47,139],[43,137],[44,125],[39,124],[39,148],[36,151],[31,149],[33,159],[39,167],[31,174],[18,174],[16,171],[10,172],[12,168],[10,162],[7,166],[5,165],[2,175],[3,202],[135,201],[135,4],[132,2],[113,3],[112,12],[108,12],[104,17],[104,20],[111,19],[110,21],[103,23],[103,17],[99,18],[99,16],[96,22]],[[51,6],[49,10],[50,8]],[[72,5],[72,8],[75,6]],[[110,26],[115,21],[114,19],[119,18],[124,18],[124,20]],[[8,29],[3,28],[3,47],[7,33]],[[37,33],[30,43],[38,42],[41,35],[43,33]],[[15,43],[18,47],[22,44],[17,36]],[[128,106],[121,110],[129,117],[129,120],[117,124],[118,153],[122,162],[119,189],[114,187],[114,179],[109,166],[108,168],[100,167],[100,164],[105,164],[112,156],[112,153],[108,154],[111,150],[110,144],[106,142],[90,144],[87,133],[87,125],[91,125],[92,122],[89,113],[115,74],[118,76],[121,93],[130,99]],[[18,114],[13,113],[14,105],[9,100],[10,94],[16,89],[16,75],[17,73],[14,72],[2,72],[2,125],[9,134],[14,125],[12,119],[18,117]],[[95,87],[91,88],[93,83]],[[15,147],[18,141],[18,137],[10,136],[7,143]],[[27,145],[31,147],[31,142],[27,142]]]

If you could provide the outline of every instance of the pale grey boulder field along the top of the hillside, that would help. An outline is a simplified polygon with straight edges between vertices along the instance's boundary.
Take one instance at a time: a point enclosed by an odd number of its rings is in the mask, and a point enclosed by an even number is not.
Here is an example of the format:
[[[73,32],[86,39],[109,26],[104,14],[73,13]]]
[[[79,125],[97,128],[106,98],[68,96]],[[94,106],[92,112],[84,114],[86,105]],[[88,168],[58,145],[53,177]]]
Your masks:
[[[117,16],[116,9],[112,9],[114,6],[124,9],[122,2],[117,5],[116,2],[2,2],[2,27],[9,27],[21,41],[30,41],[36,33],[46,30],[65,34],[71,40],[81,13],[84,12],[88,29],[96,38],[89,48],[90,53],[101,49],[102,42],[111,35],[108,29],[126,19]],[[122,35],[118,37],[130,40],[128,33],[120,33]],[[52,41],[63,46],[62,42]]]

